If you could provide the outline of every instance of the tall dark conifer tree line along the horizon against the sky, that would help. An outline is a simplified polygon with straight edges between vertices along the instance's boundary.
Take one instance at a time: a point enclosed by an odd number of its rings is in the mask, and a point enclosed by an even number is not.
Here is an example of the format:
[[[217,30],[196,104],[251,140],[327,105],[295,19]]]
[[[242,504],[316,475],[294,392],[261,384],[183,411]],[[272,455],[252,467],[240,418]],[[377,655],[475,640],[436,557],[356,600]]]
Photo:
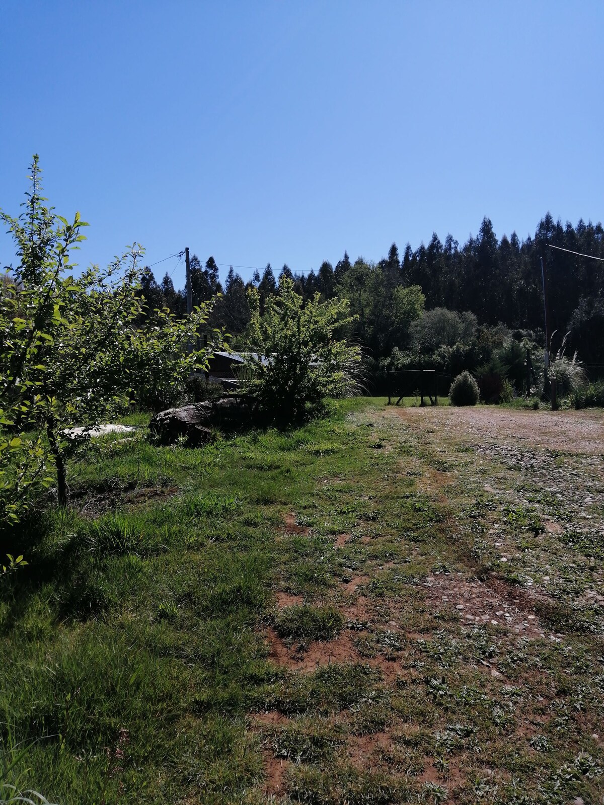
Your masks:
[[[267,298],[275,294],[279,277],[287,276],[304,300],[316,293],[322,299],[348,299],[358,316],[349,335],[374,361],[390,356],[395,348],[409,348],[410,325],[421,315],[418,291],[426,313],[445,309],[466,319],[471,313],[478,328],[504,325],[518,337],[530,333],[534,341],[543,343],[543,258],[549,332],[570,331],[569,349],[576,349],[583,361],[604,363],[604,266],[570,252],[604,258],[602,225],[582,220],[576,226],[563,225],[548,213],[534,237],[520,240],[514,232],[498,239],[490,219],[484,218],[478,235],[463,246],[450,234],[441,242],[434,233],[427,246],[421,243],[413,250],[407,243],[402,255],[393,243],[387,257],[378,262],[362,257],[352,262],[345,252],[335,266],[325,261],[317,271],[298,274],[284,265],[278,275],[269,263],[262,273],[254,271],[247,283],[231,266],[224,287],[214,258],[202,264],[193,255],[193,304],[221,294],[209,327],[232,333],[237,345],[243,342],[250,322],[247,291],[257,289],[262,312]],[[416,290],[410,293],[411,289]],[[185,291],[176,290],[168,274],[157,283],[147,271],[141,292],[150,310],[166,307],[184,316]]]

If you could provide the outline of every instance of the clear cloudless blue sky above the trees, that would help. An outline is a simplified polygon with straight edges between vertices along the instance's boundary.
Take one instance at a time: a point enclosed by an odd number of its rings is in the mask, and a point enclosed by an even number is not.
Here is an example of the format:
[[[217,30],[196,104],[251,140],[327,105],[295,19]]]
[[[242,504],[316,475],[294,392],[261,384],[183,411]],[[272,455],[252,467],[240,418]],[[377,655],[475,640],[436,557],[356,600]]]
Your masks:
[[[602,2],[3,0],[0,205],[38,152],[82,263],[275,272],[601,221],[602,31]]]

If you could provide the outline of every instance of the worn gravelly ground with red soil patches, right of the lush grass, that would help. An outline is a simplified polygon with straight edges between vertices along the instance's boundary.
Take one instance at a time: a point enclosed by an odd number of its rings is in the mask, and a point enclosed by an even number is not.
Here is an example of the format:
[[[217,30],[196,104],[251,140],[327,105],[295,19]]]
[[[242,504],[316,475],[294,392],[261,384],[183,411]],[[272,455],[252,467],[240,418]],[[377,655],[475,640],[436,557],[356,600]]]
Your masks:
[[[336,607],[342,625],[323,642],[267,628],[285,681],[253,716],[264,794],[595,802],[604,418],[373,407],[350,425],[366,457],[283,526],[325,581],[288,563],[275,622]]]

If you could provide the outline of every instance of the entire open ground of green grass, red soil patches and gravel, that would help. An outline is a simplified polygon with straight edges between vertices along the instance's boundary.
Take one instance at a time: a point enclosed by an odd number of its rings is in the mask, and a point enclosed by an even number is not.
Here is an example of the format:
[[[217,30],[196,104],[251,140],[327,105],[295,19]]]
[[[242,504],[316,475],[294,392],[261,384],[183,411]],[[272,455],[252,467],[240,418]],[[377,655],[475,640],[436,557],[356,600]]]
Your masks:
[[[603,425],[357,399],[201,449],[98,440],[72,510],[0,536],[30,562],[0,578],[0,780],[602,802]]]

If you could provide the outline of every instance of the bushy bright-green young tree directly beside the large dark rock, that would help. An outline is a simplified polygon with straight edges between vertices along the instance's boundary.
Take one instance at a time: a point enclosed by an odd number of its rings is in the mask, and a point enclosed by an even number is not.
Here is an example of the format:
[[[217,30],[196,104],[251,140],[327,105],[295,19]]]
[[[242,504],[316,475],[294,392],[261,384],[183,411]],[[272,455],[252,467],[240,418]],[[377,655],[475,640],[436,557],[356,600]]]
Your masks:
[[[250,343],[244,387],[271,419],[294,421],[316,411],[327,397],[344,397],[358,385],[361,351],[338,333],[357,319],[347,299],[304,303],[292,279],[283,275],[260,314],[252,287]]]

